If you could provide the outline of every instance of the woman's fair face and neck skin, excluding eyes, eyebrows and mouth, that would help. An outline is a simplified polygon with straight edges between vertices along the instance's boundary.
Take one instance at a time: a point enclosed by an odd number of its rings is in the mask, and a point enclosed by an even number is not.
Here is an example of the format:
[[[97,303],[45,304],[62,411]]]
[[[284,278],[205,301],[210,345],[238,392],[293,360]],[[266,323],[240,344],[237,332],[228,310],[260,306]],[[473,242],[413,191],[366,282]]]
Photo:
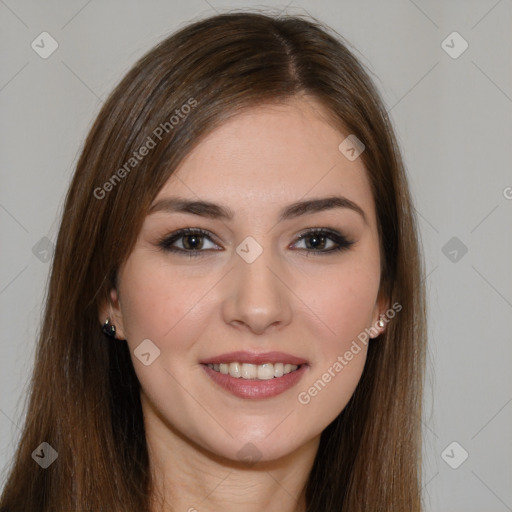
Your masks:
[[[320,434],[352,396],[367,347],[360,344],[308,404],[298,394],[388,306],[379,295],[379,239],[366,170],[360,158],[351,162],[338,149],[347,135],[310,98],[251,108],[201,141],[155,198],[208,200],[235,214],[233,220],[148,215],[120,268],[118,289],[100,311],[100,322],[111,317],[117,337],[127,340],[141,382],[155,511],[304,510],[301,493]],[[290,203],[330,195],[357,203],[366,222],[348,208],[278,222]],[[202,256],[159,247],[161,238],[185,227],[212,233],[201,239]],[[298,240],[308,228],[331,228],[354,243],[314,253],[311,237]],[[250,264],[236,252],[247,236],[263,248]],[[174,246],[185,243],[190,238]],[[329,238],[325,244],[321,250],[336,245]],[[133,355],[144,339],[160,350],[149,366]],[[282,351],[309,367],[281,395],[239,398],[199,364],[235,350]],[[256,447],[256,464],[240,460],[247,443]]]

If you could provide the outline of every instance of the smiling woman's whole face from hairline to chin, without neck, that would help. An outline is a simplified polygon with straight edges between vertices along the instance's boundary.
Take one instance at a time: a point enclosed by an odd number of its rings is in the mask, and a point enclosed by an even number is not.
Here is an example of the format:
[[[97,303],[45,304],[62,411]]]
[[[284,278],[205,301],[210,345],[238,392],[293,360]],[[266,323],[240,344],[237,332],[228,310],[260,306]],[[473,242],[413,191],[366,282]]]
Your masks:
[[[317,442],[352,396],[358,335],[385,309],[379,240],[363,163],[319,112],[238,114],[155,198],[101,315],[127,340],[147,429],[273,460]]]

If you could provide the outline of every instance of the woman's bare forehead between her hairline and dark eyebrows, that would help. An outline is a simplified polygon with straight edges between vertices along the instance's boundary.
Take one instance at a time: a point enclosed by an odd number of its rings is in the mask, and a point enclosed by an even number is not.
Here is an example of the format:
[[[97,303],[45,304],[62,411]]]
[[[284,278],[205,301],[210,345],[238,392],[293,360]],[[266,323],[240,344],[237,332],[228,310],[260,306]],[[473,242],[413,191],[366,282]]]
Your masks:
[[[338,149],[348,135],[311,99],[252,107],[206,136],[155,201],[179,195],[253,215],[255,208],[271,212],[299,199],[339,194],[359,204],[371,220],[374,205],[364,164]]]

